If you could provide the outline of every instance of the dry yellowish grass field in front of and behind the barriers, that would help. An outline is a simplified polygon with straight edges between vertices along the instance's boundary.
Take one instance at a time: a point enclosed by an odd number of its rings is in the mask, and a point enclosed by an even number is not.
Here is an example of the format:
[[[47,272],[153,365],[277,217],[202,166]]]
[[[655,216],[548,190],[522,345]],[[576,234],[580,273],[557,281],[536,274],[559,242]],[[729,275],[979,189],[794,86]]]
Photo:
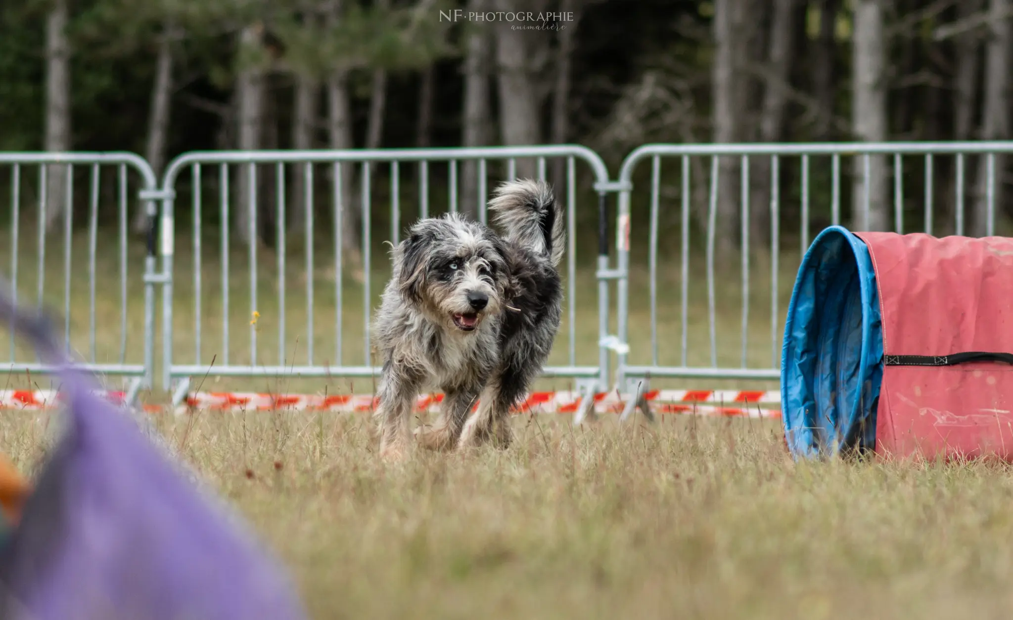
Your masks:
[[[78,254],[84,244],[75,248],[72,344],[88,357],[87,261]],[[179,359],[189,361],[194,311],[186,248],[180,240],[175,346]],[[126,330],[133,360],[141,343],[137,250],[130,255],[134,277]],[[233,258],[240,275],[230,283],[230,355],[245,361],[248,277],[243,254]],[[575,345],[578,363],[594,363],[594,279],[586,258],[593,257],[581,256],[579,263]],[[46,299],[57,309],[63,307],[63,260],[51,255],[45,270],[47,282],[57,284]],[[119,282],[109,277],[119,264],[107,254],[98,260],[96,358],[110,361],[123,346]],[[277,286],[274,260],[265,255],[259,269],[265,300]],[[333,317],[326,260],[320,257],[315,276],[320,359],[333,342],[333,324],[322,319]],[[298,357],[305,351],[305,342],[296,342],[305,329],[305,280],[296,260],[290,264],[292,340],[283,345]],[[782,263],[782,319],[796,265],[797,257],[794,264]],[[33,267],[26,261],[19,280],[29,299]],[[221,353],[218,268],[210,262],[204,270],[202,359],[209,362]],[[378,268],[374,295],[385,277]],[[718,279],[717,353],[725,365],[738,365],[742,355],[738,277],[731,272]],[[680,357],[678,284],[678,264],[666,263],[658,302],[663,363]],[[637,363],[650,360],[646,286],[643,270],[634,271],[631,344]],[[348,280],[344,292],[348,363],[363,354],[357,327],[363,321],[362,287]],[[751,308],[748,358],[769,365],[770,296],[759,267]],[[269,305],[258,312],[264,347],[258,357],[275,363],[278,314]],[[689,362],[707,365],[706,288],[696,267],[688,323]],[[564,324],[553,363],[566,362],[567,333]],[[205,389],[354,387],[336,379],[208,381]],[[8,378],[9,385],[30,382],[44,381]],[[52,420],[48,414],[0,413],[0,449],[31,471]],[[419,454],[388,467],[377,458],[371,426],[361,415],[198,412],[153,418],[281,556],[314,618],[1004,618],[1013,612],[1013,547],[1003,543],[1013,537],[1013,481],[1005,466],[794,464],[776,422],[669,416],[656,425],[637,420],[620,428],[607,417],[574,429],[569,420],[519,417],[518,441],[506,451]]]

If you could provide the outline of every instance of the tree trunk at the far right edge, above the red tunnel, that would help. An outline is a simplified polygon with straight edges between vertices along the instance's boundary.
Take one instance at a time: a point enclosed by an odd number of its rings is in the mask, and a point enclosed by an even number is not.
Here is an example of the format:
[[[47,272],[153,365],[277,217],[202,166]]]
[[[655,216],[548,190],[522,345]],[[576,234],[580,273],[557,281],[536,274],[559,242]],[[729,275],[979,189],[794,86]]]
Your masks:
[[[989,26],[991,36],[986,46],[985,58],[985,101],[982,110],[982,140],[1006,140],[1009,138],[1009,73],[1010,73],[1010,0],[989,0]],[[975,217],[971,231],[976,237],[988,234],[988,183],[989,173],[986,158],[982,157],[978,167],[978,199],[975,201]],[[1001,211],[1003,203],[1003,171],[1006,158],[995,155],[994,168],[994,208],[993,216]],[[995,234],[993,232],[993,234]]]

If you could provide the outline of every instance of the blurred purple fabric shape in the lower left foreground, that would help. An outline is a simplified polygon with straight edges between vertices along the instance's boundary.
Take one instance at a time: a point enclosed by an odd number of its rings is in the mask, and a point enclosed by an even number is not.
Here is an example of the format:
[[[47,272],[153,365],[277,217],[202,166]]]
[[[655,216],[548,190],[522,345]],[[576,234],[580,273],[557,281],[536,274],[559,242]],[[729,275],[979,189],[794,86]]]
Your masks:
[[[275,563],[165,450],[89,390],[42,319],[0,294],[0,321],[60,372],[69,424],[0,554],[0,618],[305,618]]]

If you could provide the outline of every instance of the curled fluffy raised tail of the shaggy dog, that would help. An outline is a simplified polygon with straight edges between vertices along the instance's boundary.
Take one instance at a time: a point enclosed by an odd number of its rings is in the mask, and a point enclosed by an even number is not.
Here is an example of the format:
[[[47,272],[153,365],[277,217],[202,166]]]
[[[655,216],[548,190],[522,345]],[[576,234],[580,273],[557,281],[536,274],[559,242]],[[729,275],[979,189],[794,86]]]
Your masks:
[[[559,265],[566,245],[566,222],[548,183],[508,181],[493,192],[489,209],[508,239]]]

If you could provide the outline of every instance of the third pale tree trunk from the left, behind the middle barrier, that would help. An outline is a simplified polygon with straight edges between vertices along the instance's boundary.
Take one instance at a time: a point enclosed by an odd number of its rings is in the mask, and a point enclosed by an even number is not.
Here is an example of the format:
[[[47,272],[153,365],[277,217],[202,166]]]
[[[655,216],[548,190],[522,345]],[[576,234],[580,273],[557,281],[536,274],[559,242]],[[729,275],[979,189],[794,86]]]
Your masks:
[[[259,24],[246,26],[240,33],[240,46],[259,46],[260,34]],[[258,67],[244,67],[239,71],[239,77],[236,80],[236,97],[239,107],[237,146],[242,151],[254,151],[260,148],[263,126],[263,72]],[[257,170],[258,176],[259,172]],[[239,187],[236,192],[238,202],[235,205],[235,236],[243,244],[249,244],[257,238],[256,232],[250,230],[251,215],[257,212],[257,206],[251,203],[249,173],[250,167],[241,164],[238,175]],[[258,202],[262,199],[263,196],[257,196]]]

